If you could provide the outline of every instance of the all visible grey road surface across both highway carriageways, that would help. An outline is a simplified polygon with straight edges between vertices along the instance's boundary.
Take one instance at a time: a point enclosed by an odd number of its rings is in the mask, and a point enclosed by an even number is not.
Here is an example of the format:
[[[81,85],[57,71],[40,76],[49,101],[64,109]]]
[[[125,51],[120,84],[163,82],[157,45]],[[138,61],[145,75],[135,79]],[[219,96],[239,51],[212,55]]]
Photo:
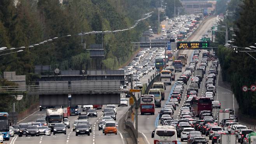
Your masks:
[[[198,41],[203,34],[207,32],[207,30],[212,26],[212,23],[215,21],[215,18],[211,18],[207,22],[203,24],[203,26],[198,29],[197,33],[193,35],[193,37],[189,38],[191,41]],[[166,24],[167,25],[167,24]],[[168,27],[168,25],[167,25]],[[156,36],[156,35],[154,35]],[[159,35],[158,35],[159,36]],[[188,54],[188,63],[191,60],[191,56],[193,56],[193,50],[184,50],[181,53],[187,53]],[[201,55],[200,55],[201,56]],[[186,65],[187,67],[188,65]],[[209,68],[209,67],[207,67]],[[182,72],[184,72],[185,67],[182,68]],[[221,70],[221,69],[219,69]],[[207,73],[207,72],[206,72]],[[217,75],[216,80],[216,86],[217,86],[217,95],[215,96],[216,100],[219,100],[221,102],[221,108],[232,108],[235,111],[238,110],[237,101],[234,99],[232,92],[229,90],[229,87],[225,86],[224,82],[221,78],[221,72],[219,71],[219,74]],[[149,72],[149,74],[144,75],[140,79],[140,82],[147,83],[148,79],[150,79],[150,76],[154,74],[154,70]],[[175,79],[177,80],[179,76],[181,75],[181,72],[175,73]],[[201,88],[199,90],[199,96],[200,94],[203,94],[205,92],[205,86],[204,86],[205,78],[203,79],[201,83]],[[188,85],[189,85],[188,81]],[[135,83],[135,82],[134,82]],[[175,82],[172,82],[171,86],[166,86],[165,90],[165,100],[162,101],[162,106],[168,101],[168,96],[170,95],[170,92],[174,88]],[[184,85],[184,93],[186,93],[186,88],[188,85]],[[126,88],[127,90],[130,89],[130,84]],[[135,94],[136,96],[137,94]],[[121,98],[125,98],[124,94],[121,94]],[[182,101],[179,107],[177,107],[177,110],[174,113],[174,119],[177,119],[179,117],[179,109],[182,107],[182,103],[184,102],[185,95],[182,95]],[[103,106],[104,108],[105,106]],[[125,114],[125,112],[128,110],[130,106],[124,106],[124,107],[118,107],[117,108],[117,120],[119,127],[121,127],[122,123],[119,122],[120,118]],[[102,110],[103,110],[102,108]],[[92,133],[91,135],[83,135],[83,136],[75,136],[75,132],[72,131],[72,124],[75,120],[77,120],[77,116],[70,116],[70,129],[67,129],[67,134],[56,134],[56,135],[50,135],[50,136],[39,136],[39,137],[18,137],[18,135],[15,135],[14,137],[11,137],[9,141],[4,141],[4,143],[7,144],[126,144],[131,142],[130,135],[121,130],[118,129],[117,135],[104,135],[102,133],[102,130],[98,130],[98,122],[100,122],[100,118],[102,118],[103,113],[102,110],[98,111],[98,117],[89,118],[89,122],[92,124]],[[158,119],[158,112],[161,110],[161,108],[156,108],[155,115],[139,115],[139,136],[144,137],[144,143],[146,144],[152,144],[153,139],[151,138],[151,133],[155,129],[157,125],[160,125],[160,120]],[[214,116],[217,115],[217,110],[213,111]],[[46,115],[46,111],[36,111],[32,115],[28,116],[24,120],[20,121],[19,123],[28,123],[33,122],[37,118],[41,118],[42,116]],[[207,137],[208,139],[208,137]],[[143,143],[143,142],[141,142]],[[178,144],[186,144],[187,142],[179,142]],[[209,141],[211,143],[211,141]]]

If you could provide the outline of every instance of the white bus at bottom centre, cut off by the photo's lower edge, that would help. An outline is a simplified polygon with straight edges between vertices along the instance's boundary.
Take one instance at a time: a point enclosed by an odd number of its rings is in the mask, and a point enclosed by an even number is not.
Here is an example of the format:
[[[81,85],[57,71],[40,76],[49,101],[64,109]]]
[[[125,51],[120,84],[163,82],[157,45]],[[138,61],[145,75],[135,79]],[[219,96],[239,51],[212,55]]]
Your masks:
[[[153,130],[154,144],[177,144],[177,132],[174,126],[158,126]]]

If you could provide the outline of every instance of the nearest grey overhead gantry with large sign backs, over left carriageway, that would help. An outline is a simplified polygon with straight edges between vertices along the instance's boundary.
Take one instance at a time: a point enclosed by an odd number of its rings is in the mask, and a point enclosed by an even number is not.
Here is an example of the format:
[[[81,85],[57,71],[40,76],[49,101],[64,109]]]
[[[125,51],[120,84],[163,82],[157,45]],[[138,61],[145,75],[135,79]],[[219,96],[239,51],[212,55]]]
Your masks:
[[[36,86],[2,86],[0,95],[39,95],[42,106],[68,105],[68,95],[72,95],[72,105],[119,104],[120,81],[42,81]]]

